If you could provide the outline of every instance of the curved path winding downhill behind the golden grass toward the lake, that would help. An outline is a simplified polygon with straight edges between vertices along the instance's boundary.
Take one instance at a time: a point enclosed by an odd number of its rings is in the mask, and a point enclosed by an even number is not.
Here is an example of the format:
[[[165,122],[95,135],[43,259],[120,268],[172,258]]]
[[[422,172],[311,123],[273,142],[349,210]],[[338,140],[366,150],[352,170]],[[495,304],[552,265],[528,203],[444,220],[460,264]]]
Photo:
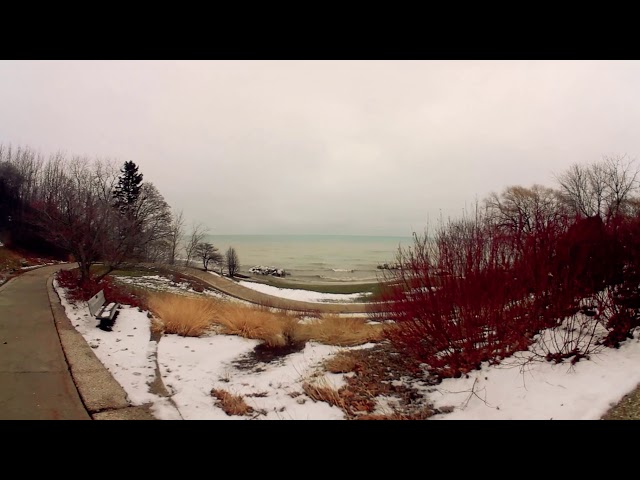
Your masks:
[[[367,308],[370,306],[368,303],[316,303],[316,302],[303,302],[300,300],[290,300],[287,298],[275,297],[266,293],[258,292],[251,288],[240,285],[232,280],[229,280],[218,275],[204,272],[193,267],[180,267],[180,266],[166,266],[164,268],[173,270],[184,275],[189,275],[202,280],[206,284],[212,286],[216,290],[230,295],[240,300],[255,303],[258,305],[265,305],[273,308],[281,308],[284,310],[296,310],[296,311],[317,311],[322,313],[361,313],[366,314]]]

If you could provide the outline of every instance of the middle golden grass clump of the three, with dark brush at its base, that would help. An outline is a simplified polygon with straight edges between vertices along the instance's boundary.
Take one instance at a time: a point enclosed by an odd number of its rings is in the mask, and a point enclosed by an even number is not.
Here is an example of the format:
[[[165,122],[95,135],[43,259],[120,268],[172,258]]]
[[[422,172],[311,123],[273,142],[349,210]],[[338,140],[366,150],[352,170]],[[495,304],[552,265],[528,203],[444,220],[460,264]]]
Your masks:
[[[263,340],[270,347],[305,341],[299,336],[297,316],[285,311],[225,303],[215,321],[223,327],[224,333]]]

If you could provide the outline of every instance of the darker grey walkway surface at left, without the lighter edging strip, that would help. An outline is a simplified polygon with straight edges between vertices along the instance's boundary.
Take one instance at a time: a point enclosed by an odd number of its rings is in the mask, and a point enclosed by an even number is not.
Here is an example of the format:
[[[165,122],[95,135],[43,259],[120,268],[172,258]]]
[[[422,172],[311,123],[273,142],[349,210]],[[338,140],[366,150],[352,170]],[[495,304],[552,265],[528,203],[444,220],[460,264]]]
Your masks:
[[[0,419],[89,420],[60,345],[47,294],[59,265],[0,287]]]

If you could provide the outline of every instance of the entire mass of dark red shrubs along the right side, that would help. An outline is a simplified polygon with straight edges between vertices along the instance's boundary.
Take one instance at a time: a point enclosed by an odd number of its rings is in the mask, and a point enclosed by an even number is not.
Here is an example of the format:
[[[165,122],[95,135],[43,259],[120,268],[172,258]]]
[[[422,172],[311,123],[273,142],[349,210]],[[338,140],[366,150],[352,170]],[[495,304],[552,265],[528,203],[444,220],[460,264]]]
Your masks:
[[[524,350],[543,329],[543,358],[588,358],[640,325],[636,223],[634,233],[598,217],[558,216],[516,235],[481,215],[449,222],[399,251],[371,315],[395,322],[390,341],[441,377]]]

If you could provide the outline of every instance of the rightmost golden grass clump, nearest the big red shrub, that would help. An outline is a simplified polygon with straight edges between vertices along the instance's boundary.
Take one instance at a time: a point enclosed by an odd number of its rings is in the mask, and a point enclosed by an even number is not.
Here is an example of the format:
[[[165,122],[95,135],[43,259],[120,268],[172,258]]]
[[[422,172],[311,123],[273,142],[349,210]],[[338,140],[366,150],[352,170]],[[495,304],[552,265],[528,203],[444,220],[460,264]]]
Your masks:
[[[383,325],[368,324],[364,318],[326,315],[319,320],[299,326],[301,337],[326,345],[352,347],[383,338]]]

